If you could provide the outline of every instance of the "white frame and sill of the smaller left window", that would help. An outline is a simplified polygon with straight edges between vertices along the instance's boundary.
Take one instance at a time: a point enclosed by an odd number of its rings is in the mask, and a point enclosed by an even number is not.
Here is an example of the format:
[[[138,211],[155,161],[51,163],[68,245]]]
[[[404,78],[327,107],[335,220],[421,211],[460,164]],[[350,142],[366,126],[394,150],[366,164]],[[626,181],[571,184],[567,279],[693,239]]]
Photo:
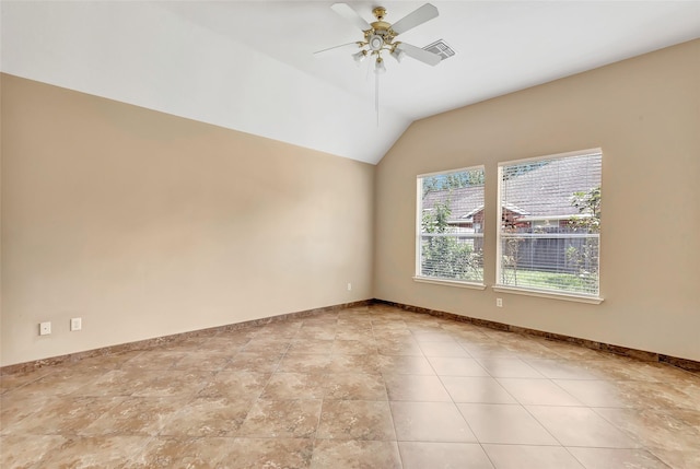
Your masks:
[[[447,176],[450,174],[455,174],[455,173],[466,173],[466,172],[472,172],[472,171],[481,171],[481,174],[483,175],[483,184],[481,185],[481,189],[483,191],[483,208],[482,210],[486,210],[486,166],[480,164],[480,165],[475,165],[475,166],[467,166],[467,167],[462,167],[462,168],[456,168],[456,169],[446,169],[446,171],[439,171],[439,172],[433,172],[433,173],[424,173],[424,174],[419,174],[416,176],[416,251],[415,251],[415,259],[416,259],[416,265],[415,265],[415,275],[412,277],[413,281],[419,282],[419,283],[428,283],[428,284],[438,284],[438,285],[448,285],[448,286],[457,286],[457,288],[463,288],[463,289],[476,289],[476,290],[485,290],[486,289],[486,283],[485,283],[485,272],[483,272],[483,268],[485,268],[485,259],[483,257],[481,258],[481,281],[476,281],[476,280],[457,280],[457,279],[448,279],[448,278],[440,278],[440,277],[429,277],[429,275],[422,275],[422,243],[421,243],[421,238],[423,237],[423,233],[422,233],[422,220],[423,220],[423,197],[422,197],[422,181],[424,178],[428,177],[433,177],[433,176]],[[486,230],[486,212],[483,213],[485,216],[485,221],[481,222],[481,233],[471,233],[469,234],[470,238],[481,238],[482,243],[486,239],[485,238],[485,233],[483,230]],[[455,237],[458,237],[458,234],[454,235]],[[463,235],[464,236],[464,235]]]

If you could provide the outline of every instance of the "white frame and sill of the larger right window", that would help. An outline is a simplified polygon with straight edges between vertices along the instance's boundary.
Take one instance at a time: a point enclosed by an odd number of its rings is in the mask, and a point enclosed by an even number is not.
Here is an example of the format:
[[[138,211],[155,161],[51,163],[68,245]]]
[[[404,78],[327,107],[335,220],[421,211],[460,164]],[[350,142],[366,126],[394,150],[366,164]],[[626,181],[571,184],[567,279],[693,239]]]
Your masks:
[[[573,302],[581,302],[581,303],[591,303],[591,304],[599,304],[604,301],[604,298],[600,295],[600,279],[602,279],[602,269],[600,269],[600,259],[602,259],[602,249],[600,249],[600,232],[598,232],[595,237],[598,239],[598,253],[597,253],[597,269],[598,269],[598,273],[597,273],[597,292],[596,293],[582,293],[582,292],[574,292],[574,291],[565,291],[565,290],[550,290],[550,289],[537,289],[534,286],[523,286],[523,285],[510,285],[510,284],[505,284],[505,283],[501,283],[501,274],[502,274],[502,259],[503,259],[503,243],[502,243],[502,216],[503,216],[503,207],[502,207],[502,191],[503,191],[503,168],[505,166],[512,166],[512,165],[522,165],[522,164],[527,164],[530,162],[538,162],[538,161],[548,161],[548,160],[564,160],[568,157],[574,157],[574,156],[584,156],[584,155],[592,155],[592,154],[599,154],[600,155],[600,169],[603,166],[603,150],[600,148],[594,148],[594,149],[587,149],[587,150],[579,150],[579,151],[573,151],[573,152],[567,152],[567,153],[557,153],[557,154],[550,154],[550,155],[542,155],[542,156],[534,156],[534,157],[527,157],[527,159],[520,159],[520,160],[511,160],[511,161],[504,161],[504,162],[499,162],[498,163],[498,179],[497,179],[497,184],[498,184],[498,188],[497,188],[497,210],[498,210],[498,216],[495,220],[495,282],[492,285],[492,289],[494,292],[502,292],[502,293],[514,293],[514,294],[522,294],[522,295],[527,295],[527,296],[538,296],[538,297],[547,297],[547,298],[557,298],[557,300],[565,300],[565,301],[573,301]],[[599,186],[600,187],[603,185],[603,176],[602,176],[602,171],[600,171],[600,181],[599,181]],[[580,235],[579,235],[580,236]],[[527,236],[525,236],[527,237]],[[578,237],[578,236],[574,236]]]

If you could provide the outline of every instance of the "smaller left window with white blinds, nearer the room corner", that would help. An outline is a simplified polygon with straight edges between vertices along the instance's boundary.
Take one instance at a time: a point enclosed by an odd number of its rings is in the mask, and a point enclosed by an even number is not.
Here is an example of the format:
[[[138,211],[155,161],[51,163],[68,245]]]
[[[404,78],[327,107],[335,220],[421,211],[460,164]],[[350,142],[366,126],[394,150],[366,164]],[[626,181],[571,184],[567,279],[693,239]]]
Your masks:
[[[418,176],[416,277],[483,283],[483,167]]]

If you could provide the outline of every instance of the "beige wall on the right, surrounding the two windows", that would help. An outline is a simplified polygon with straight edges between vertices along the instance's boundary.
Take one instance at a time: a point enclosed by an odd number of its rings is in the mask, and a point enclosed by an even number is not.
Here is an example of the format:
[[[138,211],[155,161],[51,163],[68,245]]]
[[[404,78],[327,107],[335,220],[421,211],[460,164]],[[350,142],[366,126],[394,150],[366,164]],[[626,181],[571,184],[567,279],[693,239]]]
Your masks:
[[[494,293],[498,162],[597,146],[605,302]],[[480,164],[489,288],[413,282],[416,176]],[[375,297],[700,360],[700,40],[417,121],[375,181]]]

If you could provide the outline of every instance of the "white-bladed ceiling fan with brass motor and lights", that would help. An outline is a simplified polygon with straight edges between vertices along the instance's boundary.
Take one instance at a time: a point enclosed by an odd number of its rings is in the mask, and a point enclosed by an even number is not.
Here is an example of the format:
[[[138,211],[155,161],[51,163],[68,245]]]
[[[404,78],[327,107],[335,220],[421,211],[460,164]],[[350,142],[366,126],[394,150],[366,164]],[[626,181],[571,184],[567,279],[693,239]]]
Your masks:
[[[374,71],[377,74],[386,71],[382,52],[387,52],[398,62],[400,62],[406,56],[433,67],[442,60],[438,54],[421,49],[420,47],[411,46],[410,44],[394,40],[399,34],[406,33],[407,31],[438,16],[438,9],[430,3],[425,3],[394,24],[384,21],[384,16],[386,15],[386,9],[384,7],[375,7],[372,10],[372,13],[376,19],[373,23],[368,23],[348,3],[334,3],[330,9],[359,27],[364,34],[364,38],[363,40],[341,44],[339,46],[318,50],[315,54],[354,45],[360,47],[360,51],[353,54],[352,58],[360,63],[368,56],[374,56]]]

